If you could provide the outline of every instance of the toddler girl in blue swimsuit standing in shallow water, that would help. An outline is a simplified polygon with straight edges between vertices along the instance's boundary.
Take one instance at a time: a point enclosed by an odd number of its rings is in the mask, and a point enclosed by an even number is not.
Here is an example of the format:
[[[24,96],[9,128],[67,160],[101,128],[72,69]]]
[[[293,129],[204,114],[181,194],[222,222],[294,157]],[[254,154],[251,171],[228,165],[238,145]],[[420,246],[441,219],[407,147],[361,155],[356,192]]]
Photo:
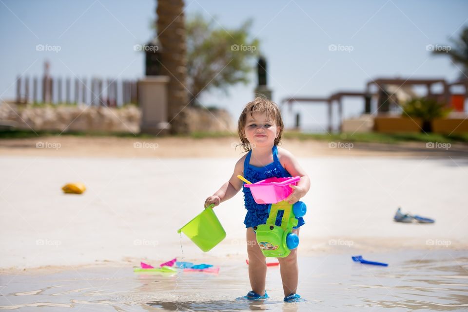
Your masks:
[[[247,229],[247,254],[249,257],[249,279],[252,291],[245,297],[248,299],[266,299],[265,278],[267,266],[265,256],[255,238],[254,226],[266,223],[268,219],[268,204],[257,204],[252,197],[250,188],[243,187],[243,182],[237,175],[244,176],[248,181],[256,183],[271,177],[300,176],[297,185],[291,185],[292,193],[285,199],[291,204],[304,197],[310,188],[310,179],[301,168],[294,156],[284,148],[278,148],[283,133],[281,113],[275,103],[267,98],[257,97],[248,103],[238,121],[238,134],[241,145],[246,152],[234,166],[234,173],[228,182],[205,201],[205,208],[210,204],[232,198],[242,188],[244,203],[247,209],[244,224]],[[283,211],[279,211],[276,225],[281,224]],[[299,227],[304,225],[303,218],[297,218],[298,223],[292,230],[299,235]],[[298,281],[297,248],[288,257],[279,257],[281,279],[283,282],[284,301],[297,301]]]

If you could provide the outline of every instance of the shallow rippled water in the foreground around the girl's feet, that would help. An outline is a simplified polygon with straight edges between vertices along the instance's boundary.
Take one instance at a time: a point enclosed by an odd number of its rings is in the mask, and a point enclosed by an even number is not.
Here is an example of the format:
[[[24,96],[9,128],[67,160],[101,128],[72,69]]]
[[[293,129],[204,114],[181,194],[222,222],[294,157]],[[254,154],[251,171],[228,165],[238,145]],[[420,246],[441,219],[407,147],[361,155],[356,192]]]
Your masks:
[[[467,311],[468,251],[300,257],[298,293],[283,303],[278,267],[268,268],[265,301],[236,300],[250,290],[240,258],[211,260],[219,274],[134,274],[131,267],[1,275],[0,310],[18,311]],[[40,307],[40,308],[39,308]],[[39,308],[39,309],[38,309]],[[384,309],[382,309],[384,308]]]

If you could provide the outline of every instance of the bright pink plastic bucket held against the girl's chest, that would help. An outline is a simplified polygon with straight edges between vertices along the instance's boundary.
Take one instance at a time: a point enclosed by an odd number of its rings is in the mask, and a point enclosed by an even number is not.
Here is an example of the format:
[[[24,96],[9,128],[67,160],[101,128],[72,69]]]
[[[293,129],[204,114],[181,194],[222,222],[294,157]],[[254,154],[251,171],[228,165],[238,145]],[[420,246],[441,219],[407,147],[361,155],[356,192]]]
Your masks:
[[[268,178],[254,184],[244,184],[250,188],[256,203],[278,203],[292,193],[292,185],[297,185],[301,180],[299,176],[290,178]]]

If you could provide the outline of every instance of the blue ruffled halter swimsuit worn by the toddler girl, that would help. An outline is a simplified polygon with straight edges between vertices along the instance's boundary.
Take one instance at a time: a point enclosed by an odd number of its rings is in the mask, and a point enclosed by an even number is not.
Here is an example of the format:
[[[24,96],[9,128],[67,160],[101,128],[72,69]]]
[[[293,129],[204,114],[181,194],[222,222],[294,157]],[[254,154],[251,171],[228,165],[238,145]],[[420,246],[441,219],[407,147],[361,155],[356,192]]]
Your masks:
[[[249,151],[247,157],[244,161],[244,178],[252,183],[256,183],[267,178],[276,177],[284,178],[291,177],[291,174],[281,165],[278,159],[278,148],[273,146],[273,163],[268,164],[264,167],[256,167],[250,165],[250,156],[252,155],[252,150]],[[245,184],[245,183],[244,183]],[[265,224],[268,219],[268,204],[259,204],[254,201],[254,197],[250,191],[250,188],[243,187],[242,192],[244,192],[244,204],[247,209],[247,215],[245,216],[244,224],[245,227],[254,227],[258,224]],[[280,210],[276,216],[275,225],[281,225],[281,218],[283,218],[283,211]],[[298,220],[298,228],[301,225],[304,225],[305,221],[301,218],[296,218]]]

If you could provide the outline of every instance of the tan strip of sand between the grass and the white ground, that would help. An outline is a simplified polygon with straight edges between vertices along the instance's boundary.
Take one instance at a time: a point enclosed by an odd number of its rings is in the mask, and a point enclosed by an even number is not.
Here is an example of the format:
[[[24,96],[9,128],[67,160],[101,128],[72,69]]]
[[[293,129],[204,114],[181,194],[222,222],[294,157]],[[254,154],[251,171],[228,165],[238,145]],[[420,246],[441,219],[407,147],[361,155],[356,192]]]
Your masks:
[[[408,157],[468,157],[468,144],[453,143],[428,148],[427,142],[380,144],[346,140],[316,141],[283,139],[280,143],[296,157],[334,156],[408,156]],[[26,139],[0,140],[0,155],[51,157],[112,157],[112,158],[239,158],[242,153],[238,137],[220,138],[132,138],[40,136]],[[39,146],[39,147],[38,147]],[[435,146],[434,146],[435,147]]]

